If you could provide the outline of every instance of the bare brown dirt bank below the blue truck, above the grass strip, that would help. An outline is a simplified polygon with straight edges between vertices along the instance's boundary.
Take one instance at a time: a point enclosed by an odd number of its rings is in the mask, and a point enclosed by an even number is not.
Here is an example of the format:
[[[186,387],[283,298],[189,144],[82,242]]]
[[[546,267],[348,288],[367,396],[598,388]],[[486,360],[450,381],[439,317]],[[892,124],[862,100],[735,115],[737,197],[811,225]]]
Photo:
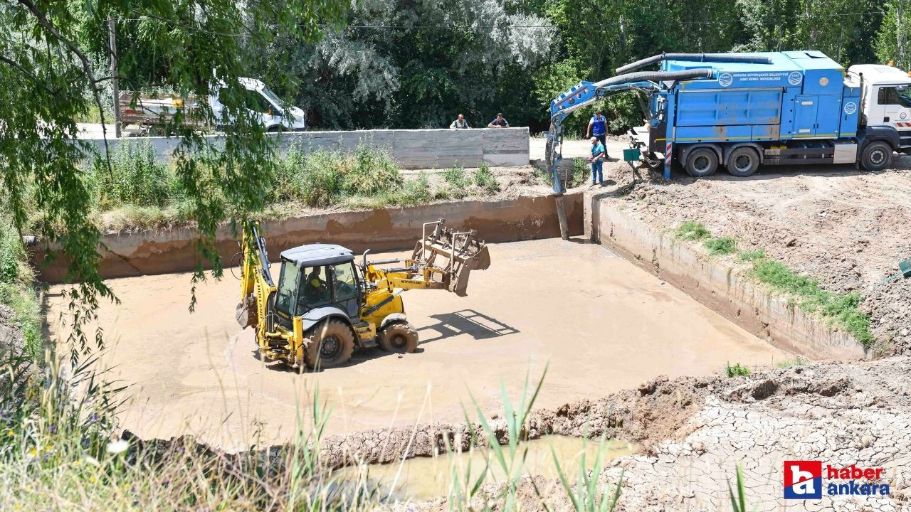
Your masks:
[[[606,172],[629,185],[627,164]],[[911,348],[911,280],[881,284],[911,258],[911,158],[896,169],[867,173],[850,166],[762,169],[750,179],[719,173],[692,179],[681,170],[670,181],[645,169],[621,196],[622,208],[669,230],[684,220],[714,236],[734,236],[738,250],[764,249],[769,258],[820,282],[832,292],[860,292],[879,353]],[[606,177],[607,178],[607,177]]]

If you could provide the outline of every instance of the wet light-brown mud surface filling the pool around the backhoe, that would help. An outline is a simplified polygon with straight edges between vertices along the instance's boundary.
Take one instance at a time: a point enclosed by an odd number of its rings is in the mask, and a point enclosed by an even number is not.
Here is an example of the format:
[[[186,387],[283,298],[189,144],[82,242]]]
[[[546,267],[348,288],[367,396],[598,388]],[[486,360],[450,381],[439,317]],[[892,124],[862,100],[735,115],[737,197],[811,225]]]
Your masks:
[[[128,385],[122,426],[143,437],[198,435],[231,450],[290,440],[298,422],[309,421],[317,387],[332,408],[327,431],[337,434],[457,422],[463,406],[475,416],[472,396],[496,413],[501,383],[515,400],[526,375],[533,387],[546,366],[537,407],[597,398],[659,374],[787,357],[599,245],[520,241],[490,252],[490,269],[472,274],[467,297],[405,292],[421,337],[417,353],[367,349],[316,374],[255,357],[252,331],[234,320],[240,292],[230,271],[198,287],[193,313],[189,274],[111,280],[121,304],[99,312],[108,343],[100,366]],[[49,293],[48,319],[65,307],[58,292]]]

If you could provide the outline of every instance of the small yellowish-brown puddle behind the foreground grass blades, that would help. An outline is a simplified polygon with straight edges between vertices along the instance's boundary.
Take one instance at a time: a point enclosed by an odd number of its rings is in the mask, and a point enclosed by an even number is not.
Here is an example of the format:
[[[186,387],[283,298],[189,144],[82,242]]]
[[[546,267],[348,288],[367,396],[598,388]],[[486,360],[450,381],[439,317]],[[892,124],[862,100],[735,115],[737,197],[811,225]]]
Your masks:
[[[544,435],[517,445],[515,456],[503,446],[504,462],[493,449],[479,448],[469,452],[443,453],[433,457],[415,457],[394,464],[371,464],[343,467],[334,475],[352,482],[371,481],[386,496],[397,499],[425,500],[457,496],[474,486],[479,478],[484,484],[504,483],[508,476],[544,476],[556,483],[562,473],[575,485],[579,471],[629,456],[637,446],[621,441],[589,440],[568,435]],[[455,479],[455,481],[454,481]]]

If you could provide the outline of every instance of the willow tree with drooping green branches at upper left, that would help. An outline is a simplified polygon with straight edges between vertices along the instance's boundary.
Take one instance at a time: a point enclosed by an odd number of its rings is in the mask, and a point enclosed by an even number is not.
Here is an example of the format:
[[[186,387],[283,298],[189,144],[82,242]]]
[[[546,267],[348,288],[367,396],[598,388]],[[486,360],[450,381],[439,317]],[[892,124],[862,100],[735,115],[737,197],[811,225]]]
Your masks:
[[[90,220],[93,196],[82,162],[94,146],[76,140],[77,119],[100,112],[110,73],[93,65],[92,50],[112,56],[107,20],[140,22],[142,33],[122,35],[118,46],[121,84],[140,90],[152,79],[182,97],[205,97],[217,84],[225,92],[230,129],[218,148],[192,128],[171,121],[181,137],[175,151],[179,188],[199,229],[200,265],[193,284],[204,278],[201,261],[220,276],[215,233],[229,211],[239,218],[261,210],[271,174],[271,138],[242,108],[251,56],[281,35],[315,43],[326,25],[343,20],[343,0],[294,2],[234,0],[3,0],[0,3],[0,200],[19,234],[36,230],[69,262],[67,280],[76,282],[71,305],[79,327],[94,316],[99,297],[114,299],[101,280],[97,261],[101,233]],[[127,26],[127,25],[124,25]],[[87,32],[89,35],[87,36]],[[132,42],[132,46],[129,44]],[[130,74],[155,58],[157,73]],[[148,66],[146,66],[148,68]],[[194,115],[215,123],[210,106]],[[111,134],[106,133],[106,140]],[[39,222],[30,222],[36,217]],[[77,346],[87,350],[81,329]]]

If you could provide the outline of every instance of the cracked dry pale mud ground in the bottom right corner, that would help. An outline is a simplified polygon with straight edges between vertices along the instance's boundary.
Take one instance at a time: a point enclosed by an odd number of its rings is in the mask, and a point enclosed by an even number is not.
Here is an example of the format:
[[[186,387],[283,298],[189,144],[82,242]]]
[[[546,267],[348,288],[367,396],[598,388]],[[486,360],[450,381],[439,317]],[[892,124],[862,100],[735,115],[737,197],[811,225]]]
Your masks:
[[[630,427],[611,433],[644,442],[640,454],[617,459],[599,477],[601,488],[611,489],[623,472],[618,510],[730,510],[728,481],[733,480],[738,463],[751,510],[911,510],[909,374],[911,358],[896,357],[857,364],[807,364],[730,379],[659,379],[641,386],[639,398],[624,392],[578,410],[594,413],[589,416],[593,425],[603,427],[617,417],[605,416],[609,404],[616,405],[615,410],[625,409],[619,416],[626,417],[624,425]],[[638,404],[640,409],[626,416],[630,409],[624,403]],[[655,408],[649,410],[650,406]],[[680,414],[667,414],[674,410]],[[542,416],[558,418],[544,413],[537,420]],[[577,416],[575,422],[586,416]],[[559,426],[565,424],[558,421],[551,425],[555,431],[578,432]],[[598,431],[596,427],[590,434]],[[784,460],[881,466],[885,468],[881,483],[890,484],[892,494],[786,501]],[[530,480],[523,480],[519,493],[523,509],[543,510],[545,504],[550,510],[569,507],[566,494],[554,482],[536,478],[536,484],[550,489],[550,494],[542,503]],[[493,498],[500,489],[488,485],[483,494]],[[480,499],[474,503],[480,504]],[[438,498],[392,508],[446,510],[449,505]]]

